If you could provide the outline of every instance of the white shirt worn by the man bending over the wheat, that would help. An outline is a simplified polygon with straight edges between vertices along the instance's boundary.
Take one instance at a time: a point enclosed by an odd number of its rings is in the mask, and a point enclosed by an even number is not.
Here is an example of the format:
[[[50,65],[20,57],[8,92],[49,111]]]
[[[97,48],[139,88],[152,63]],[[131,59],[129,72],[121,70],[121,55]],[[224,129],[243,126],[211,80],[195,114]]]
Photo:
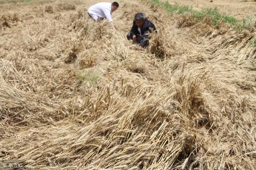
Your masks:
[[[87,12],[94,20],[98,20],[98,18],[106,18],[108,21],[113,22],[110,2],[100,2],[90,6]]]

